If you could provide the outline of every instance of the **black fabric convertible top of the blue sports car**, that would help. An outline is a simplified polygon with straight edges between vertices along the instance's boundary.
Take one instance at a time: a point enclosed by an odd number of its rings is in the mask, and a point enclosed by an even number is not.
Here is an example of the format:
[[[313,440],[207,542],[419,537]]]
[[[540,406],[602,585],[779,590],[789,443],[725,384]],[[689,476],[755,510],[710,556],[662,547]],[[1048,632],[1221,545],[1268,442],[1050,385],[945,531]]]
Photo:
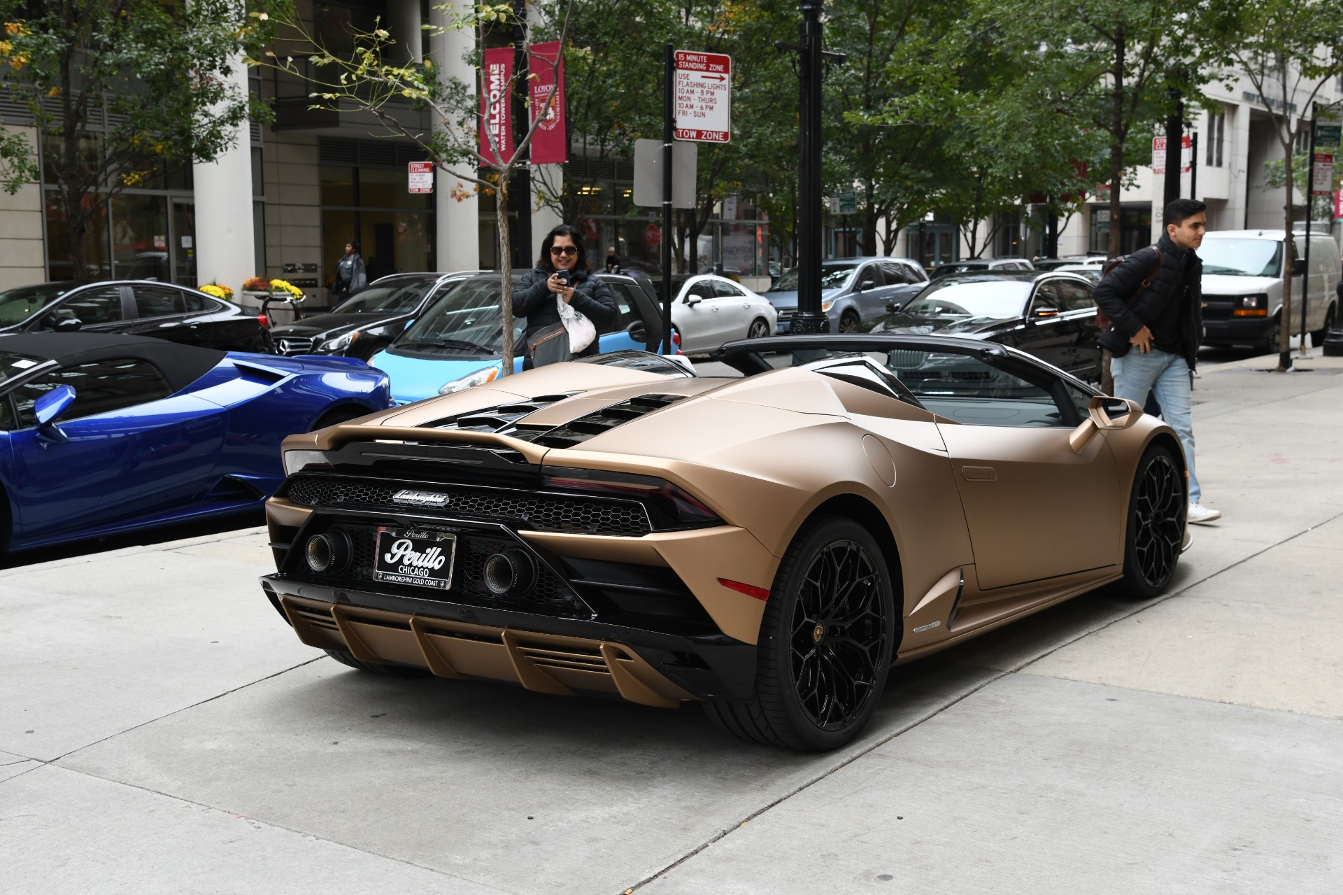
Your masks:
[[[226,352],[179,345],[145,336],[99,332],[23,332],[0,335],[0,352],[55,360],[62,367],[111,357],[148,360],[168,379],[173,391],[196,382],[224,359]]]

